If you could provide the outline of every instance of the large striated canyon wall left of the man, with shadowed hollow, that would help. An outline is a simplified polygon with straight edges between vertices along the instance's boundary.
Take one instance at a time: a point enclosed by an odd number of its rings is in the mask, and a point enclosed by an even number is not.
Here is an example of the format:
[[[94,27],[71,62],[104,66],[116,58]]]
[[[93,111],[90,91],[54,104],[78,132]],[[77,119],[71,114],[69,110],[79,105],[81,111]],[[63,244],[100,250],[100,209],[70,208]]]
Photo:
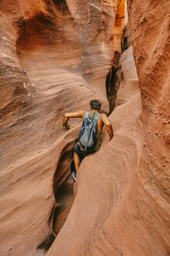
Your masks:
[[[64,133],[64,112],[87,108],[92,98],[108,109],[115,16],[113,1],[0,3],[3,256],[33,255],[50,233],[57,161],[67,144],[73,147],[80,126],[72,120]],[[58,186],[69,182],[70,156],[68,165],[61,163]]]

